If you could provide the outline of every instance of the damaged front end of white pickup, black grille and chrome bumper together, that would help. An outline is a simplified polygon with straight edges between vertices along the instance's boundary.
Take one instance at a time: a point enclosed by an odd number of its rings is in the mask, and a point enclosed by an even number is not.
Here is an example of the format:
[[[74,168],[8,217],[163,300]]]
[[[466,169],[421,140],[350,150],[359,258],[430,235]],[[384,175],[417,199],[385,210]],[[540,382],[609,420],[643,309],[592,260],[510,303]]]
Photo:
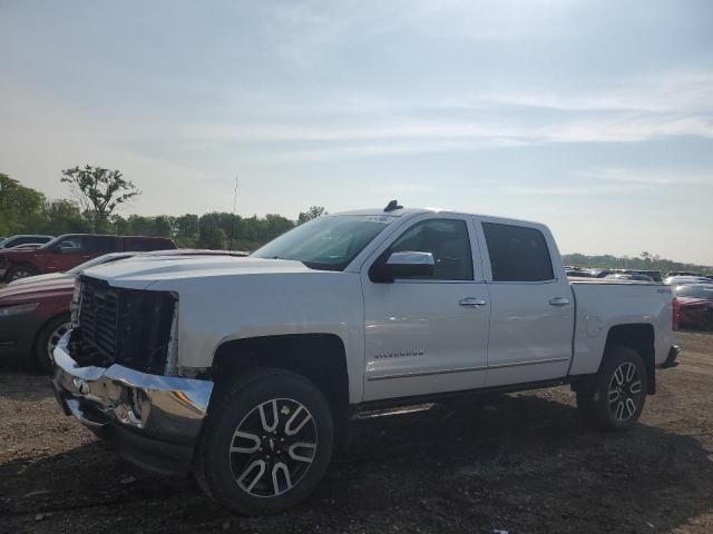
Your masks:
[[[178,299],[84,277],[74,328],[55,350],[61,407],[126,459],[185,474],[213,382],[177,375]]]

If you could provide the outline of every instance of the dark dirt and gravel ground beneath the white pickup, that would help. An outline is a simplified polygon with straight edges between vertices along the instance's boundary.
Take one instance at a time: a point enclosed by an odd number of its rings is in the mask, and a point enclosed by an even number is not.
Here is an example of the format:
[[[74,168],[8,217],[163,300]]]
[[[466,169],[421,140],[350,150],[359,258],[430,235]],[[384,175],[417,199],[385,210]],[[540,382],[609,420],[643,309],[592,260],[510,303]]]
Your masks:
[[[6,369],[0,532],[711,533],[713,336],[680,340],[632,433],[589,428],[566,387],[361,419],[312,498],[266,518],[135,471],[60,413],[48,378]]]

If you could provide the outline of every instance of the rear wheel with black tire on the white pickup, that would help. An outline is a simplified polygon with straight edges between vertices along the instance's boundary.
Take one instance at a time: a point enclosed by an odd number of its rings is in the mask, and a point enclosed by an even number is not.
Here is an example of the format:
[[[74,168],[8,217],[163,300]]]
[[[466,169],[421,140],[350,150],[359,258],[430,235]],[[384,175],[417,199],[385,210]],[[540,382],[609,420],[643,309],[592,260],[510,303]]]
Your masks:
[[[626,432],[641,417],[647,392],[648,372],[639,354],[629,347],[612,346],[604,354],[599,372],[577,390],[577,407],[599,428]]]

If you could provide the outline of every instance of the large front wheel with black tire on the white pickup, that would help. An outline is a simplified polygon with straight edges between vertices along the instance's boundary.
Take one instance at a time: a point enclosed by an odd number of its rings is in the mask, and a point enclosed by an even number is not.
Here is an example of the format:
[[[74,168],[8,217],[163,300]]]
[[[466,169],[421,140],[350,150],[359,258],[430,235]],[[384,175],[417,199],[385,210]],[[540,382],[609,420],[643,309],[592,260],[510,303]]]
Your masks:
[[[297,414],[303,415],[295,419]],[[297,432],[291,436],[293,419]],[[272,432],[265,429],[273,425]],[[238,429],[242,435],[236,436]],[[304,447],[307,442],[310,447]],[[297,444],[303,445],[293,448]],[[209,497],[233,513],[275,514],[312,493],[326,471],[333,445],[332,412],[312,382],[283,369],[256,369],[241,376],[208,411],[195,477]]]

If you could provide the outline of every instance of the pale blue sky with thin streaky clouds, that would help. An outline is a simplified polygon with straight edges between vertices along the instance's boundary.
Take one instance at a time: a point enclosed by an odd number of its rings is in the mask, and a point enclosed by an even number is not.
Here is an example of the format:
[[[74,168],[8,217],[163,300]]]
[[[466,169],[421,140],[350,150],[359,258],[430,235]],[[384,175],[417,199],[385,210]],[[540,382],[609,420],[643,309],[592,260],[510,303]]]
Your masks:
[[[0,0],[0,172],[124,215],[440,207],[713,265],[709,0]]]

